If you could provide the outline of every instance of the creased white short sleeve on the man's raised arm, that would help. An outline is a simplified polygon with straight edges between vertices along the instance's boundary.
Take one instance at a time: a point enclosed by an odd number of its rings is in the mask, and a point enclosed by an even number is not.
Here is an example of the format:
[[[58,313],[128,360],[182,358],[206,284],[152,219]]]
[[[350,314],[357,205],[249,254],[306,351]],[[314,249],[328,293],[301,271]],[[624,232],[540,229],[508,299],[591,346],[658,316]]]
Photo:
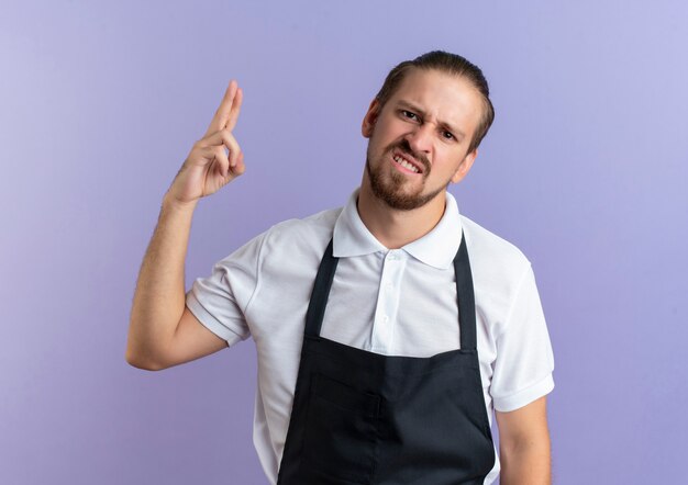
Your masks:
[[[186,295],[189,311],[229,346],[251,336],[246,308],[258,285],[266,234],[218,261],[210,277],[198,278]]]

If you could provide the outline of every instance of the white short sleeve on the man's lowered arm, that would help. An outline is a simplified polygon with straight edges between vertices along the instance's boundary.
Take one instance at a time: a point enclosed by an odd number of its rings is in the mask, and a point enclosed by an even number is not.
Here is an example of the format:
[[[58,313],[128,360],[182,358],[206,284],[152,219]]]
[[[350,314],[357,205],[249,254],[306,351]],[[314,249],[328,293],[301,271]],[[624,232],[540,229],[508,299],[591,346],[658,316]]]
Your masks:
[[[532,267],[522,277],[504,330],[496,340],[490,394],[495,409],[510,411],[554,388],[554,356]]]

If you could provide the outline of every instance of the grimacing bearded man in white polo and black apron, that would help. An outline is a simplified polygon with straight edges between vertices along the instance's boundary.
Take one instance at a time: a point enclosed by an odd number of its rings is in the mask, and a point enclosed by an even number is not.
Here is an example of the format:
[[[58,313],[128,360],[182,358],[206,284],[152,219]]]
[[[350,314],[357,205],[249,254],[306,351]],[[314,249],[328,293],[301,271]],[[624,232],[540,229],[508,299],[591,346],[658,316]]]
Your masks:
[[[493,117],[481,71],[443,52],[397,66],[346,206],[274,226],[185,294],[196,204],[244,172],[242,97],[232,81],[165,195],[127,361],[158,370],[253,337],[273,484],[491,483],[492,410],[501,483],[550,483],[554,363],[530,262],[446,191]]]

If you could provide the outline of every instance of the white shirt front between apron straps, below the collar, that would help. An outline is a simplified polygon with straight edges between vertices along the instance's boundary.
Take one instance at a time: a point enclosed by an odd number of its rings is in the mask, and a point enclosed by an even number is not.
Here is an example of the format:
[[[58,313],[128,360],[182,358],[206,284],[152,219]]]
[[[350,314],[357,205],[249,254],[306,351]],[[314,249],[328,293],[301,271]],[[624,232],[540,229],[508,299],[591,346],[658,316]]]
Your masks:
[[[459,347],[454,268],[403,251],[342,258],[321,335],[387,356],[429,357]]]

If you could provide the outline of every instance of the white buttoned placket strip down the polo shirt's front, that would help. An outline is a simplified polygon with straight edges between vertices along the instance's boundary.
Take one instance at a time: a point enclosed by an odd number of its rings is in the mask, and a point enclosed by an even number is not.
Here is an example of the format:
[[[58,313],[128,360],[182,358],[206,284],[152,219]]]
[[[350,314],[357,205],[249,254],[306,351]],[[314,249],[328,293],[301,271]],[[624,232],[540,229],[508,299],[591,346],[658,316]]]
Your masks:
[[[370,351],[391,354],[399,309],[399,289],[406,269],[406,253],[401,250],[389,250],[382,261],[382,274],[375,307],[375,320],[370,335]]]

